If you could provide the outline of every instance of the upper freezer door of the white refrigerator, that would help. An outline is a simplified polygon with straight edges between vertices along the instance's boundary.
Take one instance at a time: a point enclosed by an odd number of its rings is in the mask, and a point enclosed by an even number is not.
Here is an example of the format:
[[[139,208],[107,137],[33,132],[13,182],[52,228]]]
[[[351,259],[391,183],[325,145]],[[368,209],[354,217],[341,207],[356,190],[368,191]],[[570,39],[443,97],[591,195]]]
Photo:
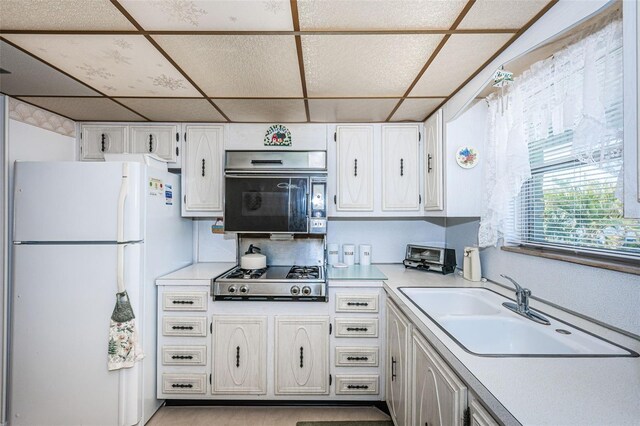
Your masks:
[[[127,164],[123,241],[139,241],[144,166]],[[14,241],[116,241],[122,175],[121,162],[16,162]]]

